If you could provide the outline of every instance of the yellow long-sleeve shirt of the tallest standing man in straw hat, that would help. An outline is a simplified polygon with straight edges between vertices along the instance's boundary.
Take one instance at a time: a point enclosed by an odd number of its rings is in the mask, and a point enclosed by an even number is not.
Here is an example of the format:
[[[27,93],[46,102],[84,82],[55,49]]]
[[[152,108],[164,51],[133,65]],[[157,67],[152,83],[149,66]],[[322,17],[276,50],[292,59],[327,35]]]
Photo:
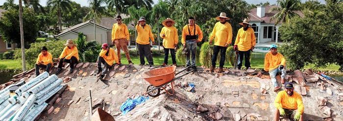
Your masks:
[[[210,35],[210,40],[214,40],[214,45],[225,46],[225,44],[230,44],[232,41],[232,27],[231,24],[225,22],[222,24],[220,21],[217,22],[213,28]]]

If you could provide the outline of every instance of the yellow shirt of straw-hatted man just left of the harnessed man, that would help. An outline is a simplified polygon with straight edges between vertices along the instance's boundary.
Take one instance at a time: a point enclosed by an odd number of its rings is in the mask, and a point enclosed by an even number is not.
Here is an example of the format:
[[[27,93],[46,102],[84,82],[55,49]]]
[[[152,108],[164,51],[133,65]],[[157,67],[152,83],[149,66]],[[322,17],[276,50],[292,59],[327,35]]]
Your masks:
[[[162,35],[165,35],[163,37]],[[174,44],[178,42],[177,29],[174,26],[164,26],[161,30],[160,37],[163,38],[164,48],[174,49]]]

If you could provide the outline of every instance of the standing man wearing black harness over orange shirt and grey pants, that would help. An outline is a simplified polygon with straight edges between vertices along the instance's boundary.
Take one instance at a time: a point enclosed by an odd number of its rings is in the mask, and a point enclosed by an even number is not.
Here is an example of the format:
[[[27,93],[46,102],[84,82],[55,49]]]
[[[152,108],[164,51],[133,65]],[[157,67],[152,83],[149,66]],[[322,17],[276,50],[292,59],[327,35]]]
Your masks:
[[[188,24],[182,29],[181,42],[183,47],[187,47],[186,66],[196,64],[196,43],[200,42],[203,38],[200,27],[194,22],[194,18],[190,17]],[[192,60],[190,60],[191,54]],[[196,66],[193,66],[193,69],[196,69]]]

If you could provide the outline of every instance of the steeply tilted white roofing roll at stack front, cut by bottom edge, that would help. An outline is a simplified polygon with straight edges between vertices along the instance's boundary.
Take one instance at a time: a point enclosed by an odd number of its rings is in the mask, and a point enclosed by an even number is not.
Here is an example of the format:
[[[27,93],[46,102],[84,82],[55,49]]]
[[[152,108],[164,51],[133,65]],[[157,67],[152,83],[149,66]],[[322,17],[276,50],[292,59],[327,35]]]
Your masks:
[[[33,102],[36,100],[37,96],[32,94],[28,97],[22,107],[18,110],[18,113],[14,116],[12,121],[22,121],[27,111],[31,108]]]

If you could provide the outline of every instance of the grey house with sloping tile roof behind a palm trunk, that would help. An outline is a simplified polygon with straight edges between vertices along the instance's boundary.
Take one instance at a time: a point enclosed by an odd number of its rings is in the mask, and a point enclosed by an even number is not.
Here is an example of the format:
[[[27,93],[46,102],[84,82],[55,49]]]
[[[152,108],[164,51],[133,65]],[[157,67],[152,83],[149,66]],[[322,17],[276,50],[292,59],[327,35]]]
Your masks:
[[[96,40],[99,44],[112,44],[112,27],[117,23],[115,18],[101,18],[100,23],[96,24]],[[128,29],[135,29],[133,25],[126,24]],[[77,39],[78,33],[86,35],[87,41],[94,40],[94,19],[76,24],[59,33],[56,37],[63,40]],[[135,40],[134,35],[130,35],[130,40]]]

